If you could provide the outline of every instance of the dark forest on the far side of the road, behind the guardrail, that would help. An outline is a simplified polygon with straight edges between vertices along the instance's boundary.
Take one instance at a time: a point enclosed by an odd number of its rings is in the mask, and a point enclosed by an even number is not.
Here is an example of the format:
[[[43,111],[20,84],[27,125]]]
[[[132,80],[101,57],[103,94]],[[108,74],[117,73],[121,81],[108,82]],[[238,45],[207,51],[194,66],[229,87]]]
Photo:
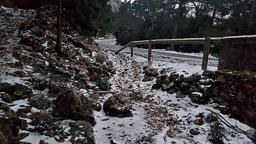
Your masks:
[[[119,45],[130,41],[253,35],[255,0],[135,0],[119,12],[100,10],[99,35],[112,33]]]

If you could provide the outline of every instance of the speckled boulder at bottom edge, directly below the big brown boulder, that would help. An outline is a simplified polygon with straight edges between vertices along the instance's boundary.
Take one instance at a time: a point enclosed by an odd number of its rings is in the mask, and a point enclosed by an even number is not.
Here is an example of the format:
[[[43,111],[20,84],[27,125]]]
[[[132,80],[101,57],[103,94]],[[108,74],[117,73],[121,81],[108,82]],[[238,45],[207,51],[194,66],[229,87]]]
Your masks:
[[[93,135],[93,127],[90,123],[86,121],[75,121],[70,122],[70,134],[75,138],[76,136],[82,136],[83,138],[78,138],[74,140],[78,143],[90,143],[95,144],[94,135]]]

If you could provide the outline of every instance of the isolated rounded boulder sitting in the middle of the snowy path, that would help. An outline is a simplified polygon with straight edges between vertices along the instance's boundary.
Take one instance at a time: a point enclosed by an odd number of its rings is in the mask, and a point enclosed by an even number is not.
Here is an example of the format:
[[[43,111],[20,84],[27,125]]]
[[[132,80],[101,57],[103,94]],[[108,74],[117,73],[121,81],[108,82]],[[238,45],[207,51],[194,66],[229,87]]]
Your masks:
[[[117,93],[109,97],[103,104],[103,109],[112,115],[127,114],[132,107],[129,96],[125,93]]]

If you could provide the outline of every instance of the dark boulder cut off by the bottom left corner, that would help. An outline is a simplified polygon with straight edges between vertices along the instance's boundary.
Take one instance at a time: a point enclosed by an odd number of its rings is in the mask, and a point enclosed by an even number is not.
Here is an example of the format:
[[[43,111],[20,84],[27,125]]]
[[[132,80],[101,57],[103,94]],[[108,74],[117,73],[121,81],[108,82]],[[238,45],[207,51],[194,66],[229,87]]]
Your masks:
[[[18,115],[5,103],[0,102],[0,142],[13,143],[12,136],[19,132],[20,119]]]

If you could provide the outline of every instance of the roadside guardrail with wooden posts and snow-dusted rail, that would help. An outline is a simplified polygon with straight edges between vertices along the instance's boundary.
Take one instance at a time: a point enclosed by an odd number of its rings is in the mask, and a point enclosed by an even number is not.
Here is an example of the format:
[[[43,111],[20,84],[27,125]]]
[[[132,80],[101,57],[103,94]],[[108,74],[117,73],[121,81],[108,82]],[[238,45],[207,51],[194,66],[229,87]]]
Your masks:
[[[134,45],[148,45],[148,63],[151,61],[152,53],[152,44],[205,44],[204,54],[202,60],[202,70],[207,69],[209,51],[211,44],[220,44],[221,39],[224,38],[242,38],[242,37],[256,37],[256,35],[246,35],[246,36],[233,36],[233,37],[223,37],[223,38],[182,38],[182,39],[162,39],[162,40],[142,40],[142,41],[133,41],[129,42],[121,49],[115,51],[115,54],[118,54],[120,51],[124,50],[130,45],[131,56],[133,56],[133,47]]]

